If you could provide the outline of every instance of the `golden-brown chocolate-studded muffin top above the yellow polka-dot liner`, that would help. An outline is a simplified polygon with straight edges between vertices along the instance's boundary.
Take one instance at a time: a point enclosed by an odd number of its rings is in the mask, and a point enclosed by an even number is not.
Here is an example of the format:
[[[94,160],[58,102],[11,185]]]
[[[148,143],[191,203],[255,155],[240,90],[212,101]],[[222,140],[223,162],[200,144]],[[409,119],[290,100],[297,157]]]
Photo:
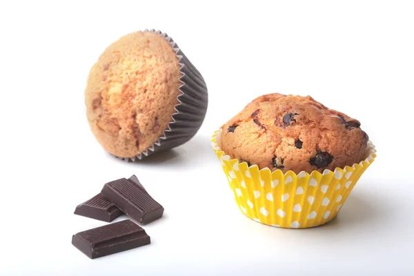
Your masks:
[[[263,95],[221,127],[221,149],[260,169],[335,170],[362,160],[368,135],[360,125],[310,96]]]

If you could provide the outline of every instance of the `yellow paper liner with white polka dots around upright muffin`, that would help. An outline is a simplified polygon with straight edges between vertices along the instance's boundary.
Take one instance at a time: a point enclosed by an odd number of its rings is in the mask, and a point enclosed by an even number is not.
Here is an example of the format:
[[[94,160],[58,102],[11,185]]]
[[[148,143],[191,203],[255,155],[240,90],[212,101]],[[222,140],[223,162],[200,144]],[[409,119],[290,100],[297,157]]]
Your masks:
[[[314,170],[295,174],[282,170],[259,170],[246,161],[231,159],[221,150],[221,130],[211,139],[239,209],[257,222],[282,228],[310,228],[331,221],[341,210],[346,198],[362,173],[375,157],[375,146],[368,142],[364,159],[359,164]]]

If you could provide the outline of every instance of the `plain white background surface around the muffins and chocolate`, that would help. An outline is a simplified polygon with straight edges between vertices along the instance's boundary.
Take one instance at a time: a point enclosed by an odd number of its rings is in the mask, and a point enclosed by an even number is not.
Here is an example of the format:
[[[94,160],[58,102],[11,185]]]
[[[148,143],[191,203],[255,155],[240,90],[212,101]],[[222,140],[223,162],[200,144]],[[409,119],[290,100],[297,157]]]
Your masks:
[[[413,14],[413,1],[1,1],[0,275],[413,275]],[[106,46],[145,28],[177,41],[209,108],[188,144],[127,164],[95,141],[83,90]],[[377,146],[331,224],[271,228],[233,201],[210,135],[268,92],[312,95]],[[88,259],[71,237],[105,223],[75,206],[132,174],[166,208],[152,244]]]

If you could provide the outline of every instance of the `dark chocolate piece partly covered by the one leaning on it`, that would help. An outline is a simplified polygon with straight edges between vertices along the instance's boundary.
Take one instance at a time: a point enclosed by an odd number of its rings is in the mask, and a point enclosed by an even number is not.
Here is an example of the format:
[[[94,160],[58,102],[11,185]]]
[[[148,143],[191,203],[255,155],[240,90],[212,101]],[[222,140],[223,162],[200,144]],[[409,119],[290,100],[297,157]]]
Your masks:
[[[75,215],[106,222],[110,222],[122,214],[124,213],[101,193],[83,202],[83,204],[79,204],[75,209]]]

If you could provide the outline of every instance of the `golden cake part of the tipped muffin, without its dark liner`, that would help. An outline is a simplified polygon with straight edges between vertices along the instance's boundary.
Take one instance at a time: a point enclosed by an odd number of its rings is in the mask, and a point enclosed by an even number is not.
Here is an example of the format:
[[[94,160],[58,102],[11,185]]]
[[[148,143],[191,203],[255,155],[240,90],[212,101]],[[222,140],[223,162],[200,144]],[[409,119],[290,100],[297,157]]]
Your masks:
[[[117,157],[135,157],[168,128],[181,73],[172,46],[154,32],[121,37],[90,70],[85,90],[90,129]]]

